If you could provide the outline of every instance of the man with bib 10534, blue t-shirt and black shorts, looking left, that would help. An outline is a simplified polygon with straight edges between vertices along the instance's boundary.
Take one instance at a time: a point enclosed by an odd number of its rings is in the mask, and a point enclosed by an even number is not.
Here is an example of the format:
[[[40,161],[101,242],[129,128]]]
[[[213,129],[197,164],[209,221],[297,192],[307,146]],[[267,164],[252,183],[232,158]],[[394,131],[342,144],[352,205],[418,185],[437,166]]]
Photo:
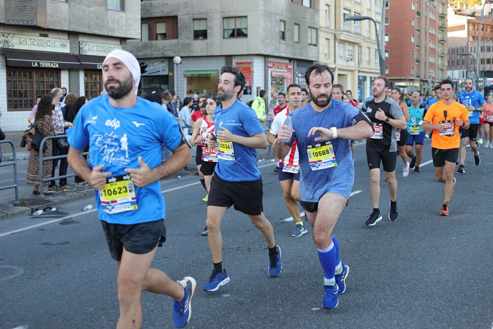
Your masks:
[[[269,248],[270,277],[282,270],[281,248],[276,245],[274,230],[265,218],[262,205],[262,178],[257,167],[255,148],[267,148],[267,139],[255,111],[238,100],[245,86],[245,75],[237,68],[221,69],[217,94],[222,105],[214,110],[215,135],[209,135],[209,147],[218,142],[218,162],[212,176],[207,201],[209,247],[214,269],[204,291],[214,292],[229,282],[222,267],[221,220],[226,210],[236,210],[248,215],[250,221],[262,232]]]

